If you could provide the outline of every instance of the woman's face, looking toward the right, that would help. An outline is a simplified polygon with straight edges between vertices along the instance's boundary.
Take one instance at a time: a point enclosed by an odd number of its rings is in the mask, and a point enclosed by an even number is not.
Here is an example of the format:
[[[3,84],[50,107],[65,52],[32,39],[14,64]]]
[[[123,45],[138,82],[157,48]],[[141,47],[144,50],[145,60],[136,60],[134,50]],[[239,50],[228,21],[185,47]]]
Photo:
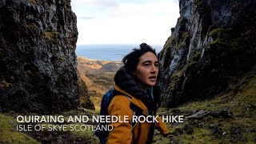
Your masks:
[[[158,58],[152,52],[146,52],[139,58],[134,75],[142,86],[154,86],[158,78]]]

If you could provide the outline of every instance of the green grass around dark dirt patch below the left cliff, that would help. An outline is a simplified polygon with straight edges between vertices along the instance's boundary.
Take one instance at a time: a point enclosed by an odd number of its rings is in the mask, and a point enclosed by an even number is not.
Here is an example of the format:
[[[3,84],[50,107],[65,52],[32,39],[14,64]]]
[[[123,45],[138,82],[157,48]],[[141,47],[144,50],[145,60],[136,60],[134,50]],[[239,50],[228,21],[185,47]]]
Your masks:
[[[13,126],[15,124],[18,124],[18,122],[16,122],[16,117],[19,114],[16,114],[14,112],[10,112],[8,114],[0,114],[0,143],[38,143],[36,140],[34,140],[34,138],[31,138],[30,136],[22,133],[22,132],[18,132],[16,130],[16,126]],[[38,115],[38,114],[27,114],[27,115]],[[54,114],[54,115],[58,115],[58,114]],[[94,110],[87,110],[87,109],[76,109],[76,110],[69,110],[69,111],[65,111],[62,112],[62,114],[64,116],[65,122],[63,123],[38,123],[39,125],[45,125],[46,129],[44,129],[44,131],[51,131],[53,129],[53,126],[55,125],[66,125],[66,129],[63,131],[63,128],[58,129],[58,131],[62,131],[62,132],[67,132],[66,134],[72,134],[72,135],[76,135],[78,136],[78,138],[83,138],[86,140],[86,142],[90,142],[90,143],[97,143],[98,142],[98,138],[96,138],[95,136],[93,136],[94,131],[92,129],[90,130],[71,130],[70,126],[71,125],[91,125],[92,122],[92,115],[98,115],[98,112],[94,111]],[[88,116],[89,122],[87,123],[73,123],[73,122],[69,122],[66,123],[68,121],[68,119],[70,118],[70,116],[74,116],[74,115],[86,115]],[[42,115],[41,115],[42,116]],[[50,126],[50,127],[49,127]],[[58,133],[57,131],[57,133]],[[52,131],[54,133],[54,131]],[[49,137],[46,135],[46,137]],[[73,136],[74,138],[74,136]]]

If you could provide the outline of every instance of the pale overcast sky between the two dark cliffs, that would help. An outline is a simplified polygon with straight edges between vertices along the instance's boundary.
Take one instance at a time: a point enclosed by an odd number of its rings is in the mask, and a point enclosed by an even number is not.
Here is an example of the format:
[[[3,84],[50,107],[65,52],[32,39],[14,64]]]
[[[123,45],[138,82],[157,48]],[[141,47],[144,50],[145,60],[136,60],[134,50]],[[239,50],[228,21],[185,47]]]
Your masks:
[[[78,43],[163,46],[179,17],[178,0],[71,0]]]

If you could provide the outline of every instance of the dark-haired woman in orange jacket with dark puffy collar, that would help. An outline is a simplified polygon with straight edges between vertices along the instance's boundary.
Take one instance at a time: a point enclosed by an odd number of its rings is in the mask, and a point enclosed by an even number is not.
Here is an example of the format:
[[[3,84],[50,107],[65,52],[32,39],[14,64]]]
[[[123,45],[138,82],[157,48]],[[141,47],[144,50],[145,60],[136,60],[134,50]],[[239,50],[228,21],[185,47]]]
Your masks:
[[[131,106],[156,116],[160,95],[159,87],[155,86],[159,66],[157,54],[151,46],[142,43],[140,49],[127,54],[122,62],[124,66],[114,76],[115,90],[118,93],[110,102],[108,112],[110,115],[121,116],[120,118],[127,115],[129,122],[110,123],[114,129],[106,143],[152,143],[155,128],[163,135],[169,133],[165,124],[159,117],[158,122],[134,124],[134,110]]]

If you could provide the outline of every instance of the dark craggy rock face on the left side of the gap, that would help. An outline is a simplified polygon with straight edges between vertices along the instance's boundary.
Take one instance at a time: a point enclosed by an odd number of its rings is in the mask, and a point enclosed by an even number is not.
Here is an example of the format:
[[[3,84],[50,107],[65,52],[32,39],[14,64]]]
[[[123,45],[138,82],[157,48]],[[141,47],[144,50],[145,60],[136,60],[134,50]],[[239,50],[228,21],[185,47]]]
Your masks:
[[[0,0],[0,110],[78,106],[76,24],[70,0]]]

